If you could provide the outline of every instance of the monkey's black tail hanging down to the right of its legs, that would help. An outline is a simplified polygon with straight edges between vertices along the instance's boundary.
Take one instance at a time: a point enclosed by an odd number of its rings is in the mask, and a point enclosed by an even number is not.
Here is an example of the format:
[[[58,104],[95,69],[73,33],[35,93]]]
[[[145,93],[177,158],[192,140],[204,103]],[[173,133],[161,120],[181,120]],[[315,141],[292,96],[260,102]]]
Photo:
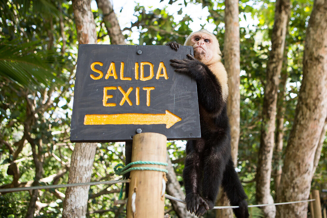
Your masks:
[[[230,200],[231,205],[240,207],[233,209],[235,216],[237,218],[248,218],[248,203],[245,200],[247,199],[247,195],[245,194],[241,181],[235,171],[232,157],[230,157],[227,163],[226,170],[223,175],[222,186],[228,199]]]

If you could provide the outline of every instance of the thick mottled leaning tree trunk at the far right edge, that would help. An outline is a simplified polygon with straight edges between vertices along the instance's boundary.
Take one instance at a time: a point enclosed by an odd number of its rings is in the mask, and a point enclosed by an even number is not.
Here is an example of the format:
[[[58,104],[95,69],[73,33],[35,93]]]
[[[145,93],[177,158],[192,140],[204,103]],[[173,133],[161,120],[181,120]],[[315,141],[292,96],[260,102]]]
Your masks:
[[[286,151],[278,201],[309,197],[327,116],[327,0],[315,0],[307,28],[303,79]],[[307,203],[281,205],[277,217],[307,217]]]

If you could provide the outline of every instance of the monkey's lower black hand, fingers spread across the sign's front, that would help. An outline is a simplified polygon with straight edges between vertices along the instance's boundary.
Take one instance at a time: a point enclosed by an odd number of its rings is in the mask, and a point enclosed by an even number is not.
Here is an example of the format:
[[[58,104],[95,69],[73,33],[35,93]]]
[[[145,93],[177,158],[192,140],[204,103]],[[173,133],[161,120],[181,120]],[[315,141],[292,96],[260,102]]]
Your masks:
[[[170,60],[170,65],[176,68],[176,72],[188,74],[194,79],[202,77],[206,72],[205,64],[199,62],[195,57],[190,54],[187,54],[186,56],[188,58],[185,58],[183,60]]]

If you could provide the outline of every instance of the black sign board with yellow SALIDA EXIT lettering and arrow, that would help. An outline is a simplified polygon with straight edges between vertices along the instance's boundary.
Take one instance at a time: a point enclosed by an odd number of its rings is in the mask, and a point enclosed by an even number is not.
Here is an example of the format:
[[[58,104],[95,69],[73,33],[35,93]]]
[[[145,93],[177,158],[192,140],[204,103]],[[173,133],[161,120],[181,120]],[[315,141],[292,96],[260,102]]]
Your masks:
[[[128,141],[140,131],[201,137],[196,82],[169,61],[186,54],[193,47],[79,45],[70,140]]]

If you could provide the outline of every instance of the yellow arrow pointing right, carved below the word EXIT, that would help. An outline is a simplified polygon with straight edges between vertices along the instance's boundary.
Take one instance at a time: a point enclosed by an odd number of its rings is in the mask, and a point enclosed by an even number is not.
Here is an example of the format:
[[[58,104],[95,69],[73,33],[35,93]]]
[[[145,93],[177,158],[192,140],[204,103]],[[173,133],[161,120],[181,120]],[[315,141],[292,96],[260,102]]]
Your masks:
[[[182,118],[166,110],[165,114],[87,114],[84,117],[84,125],[106,124],[166,124],[169,129]]]

